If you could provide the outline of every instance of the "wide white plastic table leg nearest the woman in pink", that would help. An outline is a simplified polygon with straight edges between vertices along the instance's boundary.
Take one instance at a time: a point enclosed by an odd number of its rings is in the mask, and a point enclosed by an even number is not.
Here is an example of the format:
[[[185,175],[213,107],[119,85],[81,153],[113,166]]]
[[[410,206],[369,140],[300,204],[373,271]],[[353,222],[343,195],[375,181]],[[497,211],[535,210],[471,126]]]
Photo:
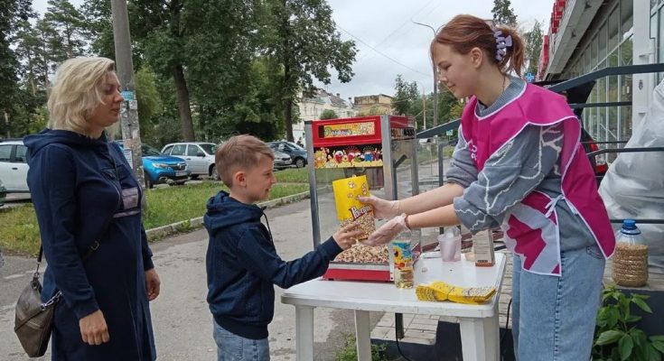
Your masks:
[[[486,319],[459,319],[464,361],[498,361],[500,329],[498,312]]]

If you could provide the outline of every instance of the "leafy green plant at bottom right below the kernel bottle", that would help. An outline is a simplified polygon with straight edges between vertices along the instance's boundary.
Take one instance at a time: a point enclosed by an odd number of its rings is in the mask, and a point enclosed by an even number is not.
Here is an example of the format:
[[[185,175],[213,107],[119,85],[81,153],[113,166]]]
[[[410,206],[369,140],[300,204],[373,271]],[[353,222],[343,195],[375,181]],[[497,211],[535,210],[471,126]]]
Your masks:
[[[664,336],[648,337],[633,324],[641,316],[631,314],[634,305],[652,313],[645,300],[649,296],[627,296],[611,285],[603,290],[602,307],[597,312],[593,359],[605,361],[657,361],[664,354]]]

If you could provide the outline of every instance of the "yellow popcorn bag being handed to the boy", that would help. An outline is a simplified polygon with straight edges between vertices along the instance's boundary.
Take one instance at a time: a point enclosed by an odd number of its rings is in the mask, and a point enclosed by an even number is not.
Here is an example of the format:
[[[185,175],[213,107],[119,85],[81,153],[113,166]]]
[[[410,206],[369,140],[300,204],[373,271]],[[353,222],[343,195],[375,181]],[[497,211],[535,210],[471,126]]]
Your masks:
[[[369,238],[369,235],[376,230],[373,208],[358,200],[359,196],[369,197],[367,176],[360,175],[334,180],[332,181],[332,190],[334,192],[334,202],[337,206],[337,218],[339,218],[341,226],[356,222],[362,230],[362,235],[358,239]]]

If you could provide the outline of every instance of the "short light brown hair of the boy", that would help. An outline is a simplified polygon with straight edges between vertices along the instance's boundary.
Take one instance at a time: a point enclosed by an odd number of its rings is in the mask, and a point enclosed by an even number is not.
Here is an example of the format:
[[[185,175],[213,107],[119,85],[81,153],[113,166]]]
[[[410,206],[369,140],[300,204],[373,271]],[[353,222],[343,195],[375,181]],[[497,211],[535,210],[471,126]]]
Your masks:
[[[235,135],[217,150],[214,164],[221,180],[230,188],[233,186],[233,174],[256,167],[261,154],[275,159],[275,153],[257,137],[248,134]]]

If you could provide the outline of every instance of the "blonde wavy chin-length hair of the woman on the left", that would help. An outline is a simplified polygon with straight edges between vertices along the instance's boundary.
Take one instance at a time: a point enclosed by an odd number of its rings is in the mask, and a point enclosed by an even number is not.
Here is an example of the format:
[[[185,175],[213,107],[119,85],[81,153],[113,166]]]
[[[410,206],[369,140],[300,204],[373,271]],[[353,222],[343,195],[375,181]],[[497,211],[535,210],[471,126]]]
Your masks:
[[[104,81],[116,76],[115,61],[107,58],[73,58],[55,72],[49,95],[49,128],[89,134],[87,118],[103,103]]]

